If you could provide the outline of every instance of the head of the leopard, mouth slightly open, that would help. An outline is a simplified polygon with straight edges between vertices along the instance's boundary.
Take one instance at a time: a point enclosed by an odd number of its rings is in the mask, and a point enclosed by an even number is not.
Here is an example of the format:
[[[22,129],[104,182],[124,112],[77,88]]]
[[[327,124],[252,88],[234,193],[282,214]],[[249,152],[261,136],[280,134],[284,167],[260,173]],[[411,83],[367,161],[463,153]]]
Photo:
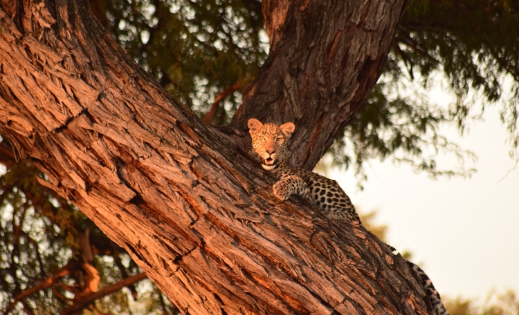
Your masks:
[[[274,169],[286,159],[286,143],[295,129],[294,124],[262,124],[251,118],[247,125],[253,138],[253,153],[260,157],[264,169]]]

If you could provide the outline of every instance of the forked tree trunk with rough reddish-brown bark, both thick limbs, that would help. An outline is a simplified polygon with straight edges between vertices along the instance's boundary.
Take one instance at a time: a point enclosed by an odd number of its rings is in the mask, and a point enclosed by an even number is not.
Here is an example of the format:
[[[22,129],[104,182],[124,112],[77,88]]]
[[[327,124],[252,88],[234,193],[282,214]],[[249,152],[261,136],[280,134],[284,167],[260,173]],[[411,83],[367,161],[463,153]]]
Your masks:
[[[405,3],[264,6],[271,56],[233,126],[295,118],[296,160],[310,167],[367,97]],[[276,200],[240,136],[167,95],[87,1],[0,0],[0,30],[0,134],[183,314],[428,314],[401,257],[363,227]]]

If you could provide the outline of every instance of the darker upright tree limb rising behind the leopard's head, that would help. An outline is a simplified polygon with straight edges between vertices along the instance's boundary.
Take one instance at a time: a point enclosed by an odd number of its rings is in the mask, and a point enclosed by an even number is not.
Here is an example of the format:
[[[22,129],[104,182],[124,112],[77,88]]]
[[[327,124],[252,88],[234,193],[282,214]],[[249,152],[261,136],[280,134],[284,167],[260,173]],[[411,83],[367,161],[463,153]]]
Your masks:
[[[364,104],[408,0],[264,0],[271,52],[231,126],[294,122],[292,162],[313,166]]]

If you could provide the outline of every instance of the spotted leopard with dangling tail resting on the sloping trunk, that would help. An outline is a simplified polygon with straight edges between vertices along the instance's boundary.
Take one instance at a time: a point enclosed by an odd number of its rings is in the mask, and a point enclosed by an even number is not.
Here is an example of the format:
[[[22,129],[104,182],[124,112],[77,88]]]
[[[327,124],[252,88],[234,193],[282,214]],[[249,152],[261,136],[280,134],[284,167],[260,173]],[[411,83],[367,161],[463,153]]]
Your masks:
[[[260,120],[251,118],[247,126],[252,138],[250,155],[261,162],[263,169],[277,178],[277,182],[273,185],[273,194],[276,198],[284,201],[291,195],[299,195],[316,204],[329,220],[362,225],[352,201],[340,188],[338,182],[289,164],[286,149],[288,140],[295,131],[295,124],[292,122],[282,125],[262,124]],[[405,261],[421,281],[433,314],[449,315],[425,271],[413,262]]]

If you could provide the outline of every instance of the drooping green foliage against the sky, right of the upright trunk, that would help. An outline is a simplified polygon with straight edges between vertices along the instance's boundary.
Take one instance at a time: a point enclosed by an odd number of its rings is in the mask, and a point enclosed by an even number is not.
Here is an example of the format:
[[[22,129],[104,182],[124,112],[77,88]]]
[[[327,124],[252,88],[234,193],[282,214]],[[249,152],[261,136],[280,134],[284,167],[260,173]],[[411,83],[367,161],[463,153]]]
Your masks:
[[[435,106],[421,93],[406,95],[413,84],[430,88],[439,75],[457,99],[453,104]],[[471,175],[473,170],[462,166],[466,158],[474,158],[472,153],[439,130],[457,126],[464,133],[471,113],[477,111],[474,97],[482,104],[480,114],[485,105],[502,104],[510,156],[518,161],[519,3],[411,1],[381,79],[331,153],[336,164],[347,166],[354,160],[360,175],[372,158],[407,162],[433,178]],[[345,144],[353,146],[347,154]],[[437,169],[438,151],[454,153],[459,168]]]

